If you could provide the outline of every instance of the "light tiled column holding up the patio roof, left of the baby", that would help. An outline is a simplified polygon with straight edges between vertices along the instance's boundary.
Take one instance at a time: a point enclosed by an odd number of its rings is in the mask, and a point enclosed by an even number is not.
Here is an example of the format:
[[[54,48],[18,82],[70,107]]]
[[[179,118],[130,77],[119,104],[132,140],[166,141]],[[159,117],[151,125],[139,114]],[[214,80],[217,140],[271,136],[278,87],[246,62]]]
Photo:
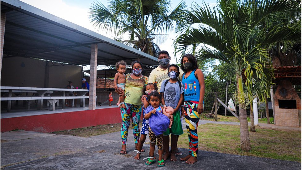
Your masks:
[[[97,44],[91,45],[90,57],[90,81],[89,81],[89,109],[94,110],[97,103]]]

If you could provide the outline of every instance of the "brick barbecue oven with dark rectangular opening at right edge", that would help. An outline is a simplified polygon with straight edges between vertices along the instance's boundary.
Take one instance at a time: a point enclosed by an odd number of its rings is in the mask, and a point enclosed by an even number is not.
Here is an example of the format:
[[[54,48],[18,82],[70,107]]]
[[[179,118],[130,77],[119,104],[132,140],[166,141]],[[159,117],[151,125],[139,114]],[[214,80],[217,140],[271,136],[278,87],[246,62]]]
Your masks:
[[[278,100],[296,100],[297,109],[279,108]],[[299,127],[298,110],[301,110],[301,99],[290,81],[279,81],[274,94],[275,122],[279,126]]]

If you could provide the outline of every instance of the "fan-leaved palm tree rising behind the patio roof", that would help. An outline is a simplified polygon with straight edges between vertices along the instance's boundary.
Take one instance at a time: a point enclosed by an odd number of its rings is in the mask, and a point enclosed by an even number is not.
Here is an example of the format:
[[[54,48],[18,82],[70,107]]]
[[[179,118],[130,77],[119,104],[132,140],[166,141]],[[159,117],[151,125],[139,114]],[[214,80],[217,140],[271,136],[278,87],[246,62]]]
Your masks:
[[[89,18],[93,25],[107,31],[114,31],[118,36],[129,34],[124,40],[133,48],[157,56],[159,47],[153,40],[166,37],[183,20],[187,7],[179,3],[170,13],[170,0],[110,0],[106,8],[100,1],[90,8]]]

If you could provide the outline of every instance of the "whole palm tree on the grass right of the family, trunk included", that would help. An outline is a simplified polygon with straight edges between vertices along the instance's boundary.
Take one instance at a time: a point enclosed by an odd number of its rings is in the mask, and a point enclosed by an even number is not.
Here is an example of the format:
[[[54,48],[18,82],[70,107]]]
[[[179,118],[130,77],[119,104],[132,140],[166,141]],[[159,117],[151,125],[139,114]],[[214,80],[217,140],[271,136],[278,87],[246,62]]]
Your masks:
[[[292,13],[297,7],[286,0],[219,0],[216,7],[197,3],[186,14],[175,41],[176,52],[192,52],[199,60],[222,60],[234,69],[237,78],[241,150],[251,150],[246,105],[257,92],[264,100],[272,85],[273,68],[261,37],[263,23],[278,20],[275,14]],[[278,15],[279,16],[279,15]],[[198,28],[192,24],[198,23]],[[262,28],[262,29],[261,29]],[[280,41],[282,37],[275,37]],[[206,45],[199,48],[200,45]],[[211,50],[208,46],[214,48]],[[244,90],[241,72],[247,77]],[[248,102],[246,102],[248,101]]]

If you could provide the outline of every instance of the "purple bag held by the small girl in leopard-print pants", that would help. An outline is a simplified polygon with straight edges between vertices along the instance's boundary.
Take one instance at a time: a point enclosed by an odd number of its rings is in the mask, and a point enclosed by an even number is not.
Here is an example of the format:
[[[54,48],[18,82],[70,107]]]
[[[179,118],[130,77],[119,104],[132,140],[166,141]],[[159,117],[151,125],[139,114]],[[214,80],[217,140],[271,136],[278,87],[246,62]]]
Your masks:
[[[149,106],[145,109],[145,113],[149,113],[153,109],[154,109],[154,107]],[[155,136],[158,136],[158,135],[166,132],[166,130],[169,127],[169,124],[170,124],[170,119],[166,115],[164,115],[158,111],[156,111],[155,114],[151,114],[151,116],[149,118],[150,129],[153,131]]]

